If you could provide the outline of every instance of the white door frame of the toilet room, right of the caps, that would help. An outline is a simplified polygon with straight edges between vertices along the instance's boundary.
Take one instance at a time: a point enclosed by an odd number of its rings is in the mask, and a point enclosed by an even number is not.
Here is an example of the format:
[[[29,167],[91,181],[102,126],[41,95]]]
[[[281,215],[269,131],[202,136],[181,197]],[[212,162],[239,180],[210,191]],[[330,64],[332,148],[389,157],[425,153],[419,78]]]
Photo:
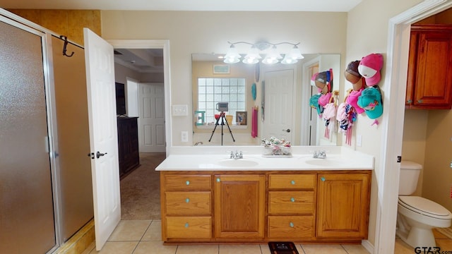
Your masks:
[[[419,20],[451,8],[451,0],[425,0],[407,11],[391,18],[388,22],[388,48],[386,50],[385,110],[381,127],[381,160],[376,162],[381,170],[376,172],[379,179],[378,204],[376,209],[375,243],[363,241],[363,246],[371,253],[393,253],[396,236],[398,185],[400,163],[397,156],[402,152],[403,122],[405,118],[405,85],[408,73],[408,50],[410,45],[410,25]],[[392,85],[394,84],[394,85]]]

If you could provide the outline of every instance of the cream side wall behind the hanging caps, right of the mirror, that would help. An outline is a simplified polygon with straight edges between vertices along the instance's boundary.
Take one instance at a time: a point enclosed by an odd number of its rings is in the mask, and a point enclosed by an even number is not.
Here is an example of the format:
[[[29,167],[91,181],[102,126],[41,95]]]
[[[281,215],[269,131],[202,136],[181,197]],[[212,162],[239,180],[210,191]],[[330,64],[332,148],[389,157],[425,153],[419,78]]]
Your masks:
[[[421,0],[367,0],[348,12],[347,19],[347,57],[346,63],[361,59],[371,53],[383,54],[386,61],[386,50],[388,49],[388,21],[393,16],[408,10],[419,4]],[[386,70],[383,67],[381,80],[385,78]],[[346,85],[350,85],[347,83]],[[385,90],[383,81],[379,83],[381,90]],[[343,90],[341,90],[343,91]],[[383,98],[383,100],[386,98]],[[384,102],[383,102],[384,105]],[[384,110],[384,109],[383,109]],[[355,136],[362,135],[362,147],[356,150],[366,152],[375,157],[375,170],[372,176],[371,188],[371,212],[369,218],[369,241],[375,241],[376,209],[378,200],[378,176],[381,173],[381,145],[383,139],[383,128],[371,126],[373,120],[365,114],[359,115],[355,126],[353,126],[354,137],[352,146],[355,147]],[[394,229],[395,230],[395,229]]]

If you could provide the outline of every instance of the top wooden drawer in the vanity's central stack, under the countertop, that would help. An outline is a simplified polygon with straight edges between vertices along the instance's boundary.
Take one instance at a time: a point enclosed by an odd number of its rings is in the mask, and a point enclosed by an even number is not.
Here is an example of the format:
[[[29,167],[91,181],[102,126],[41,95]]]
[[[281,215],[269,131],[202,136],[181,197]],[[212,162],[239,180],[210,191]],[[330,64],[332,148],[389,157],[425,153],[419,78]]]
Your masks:
[[[311,188],[316,186],[316,174],[270,174],[268,188]]]

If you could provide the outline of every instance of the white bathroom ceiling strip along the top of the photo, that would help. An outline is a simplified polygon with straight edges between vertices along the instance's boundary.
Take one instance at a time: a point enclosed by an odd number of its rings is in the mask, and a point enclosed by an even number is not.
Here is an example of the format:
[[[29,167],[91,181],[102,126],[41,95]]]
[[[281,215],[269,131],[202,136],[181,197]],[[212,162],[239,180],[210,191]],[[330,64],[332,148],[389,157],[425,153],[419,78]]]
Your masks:
[[[339,11],[362,0],[1,0],[1,8],[140,11]]]

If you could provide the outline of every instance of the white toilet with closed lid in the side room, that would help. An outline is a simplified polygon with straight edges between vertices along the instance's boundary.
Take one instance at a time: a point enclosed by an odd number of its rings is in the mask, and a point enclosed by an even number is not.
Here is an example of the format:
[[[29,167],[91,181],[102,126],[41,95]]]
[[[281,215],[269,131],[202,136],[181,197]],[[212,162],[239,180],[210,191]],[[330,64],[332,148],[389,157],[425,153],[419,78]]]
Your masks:
[[[451,226],[452,214],[427,198],[409,196],[416,191],[422,166],[415,162],[400,164],[396,234],[413,248],[436,246],[434,228]]]

